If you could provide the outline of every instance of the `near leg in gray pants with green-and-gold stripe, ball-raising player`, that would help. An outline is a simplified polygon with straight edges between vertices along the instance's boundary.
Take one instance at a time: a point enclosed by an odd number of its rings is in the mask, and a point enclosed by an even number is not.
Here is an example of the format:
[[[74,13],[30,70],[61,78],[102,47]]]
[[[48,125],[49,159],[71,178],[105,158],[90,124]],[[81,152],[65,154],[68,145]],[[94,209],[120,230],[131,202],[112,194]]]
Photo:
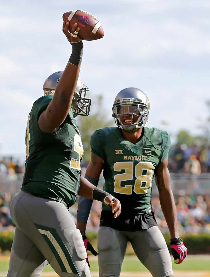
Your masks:
[[[16,214],[21,230],[59,276],[90,276],[82,236],[62,203],[22,192]]]

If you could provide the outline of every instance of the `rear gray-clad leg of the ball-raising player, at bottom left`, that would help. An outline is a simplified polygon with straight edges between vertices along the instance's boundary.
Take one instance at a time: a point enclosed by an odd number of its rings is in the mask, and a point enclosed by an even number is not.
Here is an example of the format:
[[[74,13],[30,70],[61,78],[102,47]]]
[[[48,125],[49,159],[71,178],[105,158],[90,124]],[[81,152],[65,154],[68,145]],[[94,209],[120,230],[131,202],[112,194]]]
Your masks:
[[[40,277],[44,261],[39,249],[16,227],[7,277]]]

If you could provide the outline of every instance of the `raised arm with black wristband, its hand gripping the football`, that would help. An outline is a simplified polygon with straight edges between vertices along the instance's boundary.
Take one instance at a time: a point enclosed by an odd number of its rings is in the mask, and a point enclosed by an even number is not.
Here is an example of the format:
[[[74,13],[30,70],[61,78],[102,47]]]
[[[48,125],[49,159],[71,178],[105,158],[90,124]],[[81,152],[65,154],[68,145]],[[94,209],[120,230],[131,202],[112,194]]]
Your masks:
[[[46,133],[53,133],[58,130],[59,126],[66,119],[71,108],[71,102],[79,77],[83,43],[79,37],[73,37],[68,32],[68,26],[69,22],[63,22],[63,32],[72,45],[72,54],[56,86],[52,101],[39,116],[39,128]],[[79,32],[77,23],[74,24],[71,30],[72,34],[76,34],[76,32]]]

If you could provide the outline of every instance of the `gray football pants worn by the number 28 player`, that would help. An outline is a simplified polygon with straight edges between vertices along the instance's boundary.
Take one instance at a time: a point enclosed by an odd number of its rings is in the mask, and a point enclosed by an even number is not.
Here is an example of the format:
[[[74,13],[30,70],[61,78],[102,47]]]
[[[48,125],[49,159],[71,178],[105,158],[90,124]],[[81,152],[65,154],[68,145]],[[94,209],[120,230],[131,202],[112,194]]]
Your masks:
[[[171,257],[157,226],[136,232],[100,227],[98,232],[99,276],[119,277],[127,242],[153,277],[172,276]]]

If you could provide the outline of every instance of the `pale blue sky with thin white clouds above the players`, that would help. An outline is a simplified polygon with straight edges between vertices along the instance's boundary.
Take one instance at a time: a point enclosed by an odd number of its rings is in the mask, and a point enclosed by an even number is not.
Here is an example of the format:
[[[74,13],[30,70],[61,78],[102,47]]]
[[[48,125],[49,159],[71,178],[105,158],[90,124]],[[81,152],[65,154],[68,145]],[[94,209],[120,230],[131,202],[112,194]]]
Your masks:
[[[96,16],[105,33],[84,41],[80,77],[92,106],[102,94],[111,118],[116,94],[137,87],[150,100],[147,127],[172,139],[181,129],[199,133],[210,99],[209,0],[0,1],[0,156],[25,155],[33,102],[71,54],[63,13],[77,9]]]

